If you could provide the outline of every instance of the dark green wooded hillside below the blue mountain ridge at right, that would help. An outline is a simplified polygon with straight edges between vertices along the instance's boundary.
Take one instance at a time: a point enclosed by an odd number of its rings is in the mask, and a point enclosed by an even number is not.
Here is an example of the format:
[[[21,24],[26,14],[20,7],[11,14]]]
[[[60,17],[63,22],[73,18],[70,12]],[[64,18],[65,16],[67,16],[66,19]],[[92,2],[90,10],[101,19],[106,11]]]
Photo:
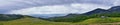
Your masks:
[[[104,17],[102,17],[104,16]],[[54,22],[82,22],[91,18],[108,18],[108,17],[120,17],[119,12],[113,13],[98,13],[92,15],[80,15],[80,14],[69,14],[67,16],[49,18],[48,21]]]

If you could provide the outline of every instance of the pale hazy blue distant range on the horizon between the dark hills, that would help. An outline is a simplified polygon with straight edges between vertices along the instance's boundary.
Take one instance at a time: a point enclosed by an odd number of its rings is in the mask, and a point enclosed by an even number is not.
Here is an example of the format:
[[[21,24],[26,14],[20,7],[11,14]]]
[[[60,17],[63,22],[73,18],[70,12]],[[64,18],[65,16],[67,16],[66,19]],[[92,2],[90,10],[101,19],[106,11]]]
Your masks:
[[[59,17],[66,16],[67,14],[31,14],[30,16],[40,17],[40,18],[50,18],[50,17]]]

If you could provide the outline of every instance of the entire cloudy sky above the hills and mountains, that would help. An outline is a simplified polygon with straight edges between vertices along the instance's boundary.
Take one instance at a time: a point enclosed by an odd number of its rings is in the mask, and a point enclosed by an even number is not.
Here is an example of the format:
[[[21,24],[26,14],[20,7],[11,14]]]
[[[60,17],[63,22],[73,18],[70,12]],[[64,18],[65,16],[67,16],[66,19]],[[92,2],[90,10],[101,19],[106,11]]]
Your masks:
[[[120,0],[0,0],[0,14],[82,14],[119,6]]]

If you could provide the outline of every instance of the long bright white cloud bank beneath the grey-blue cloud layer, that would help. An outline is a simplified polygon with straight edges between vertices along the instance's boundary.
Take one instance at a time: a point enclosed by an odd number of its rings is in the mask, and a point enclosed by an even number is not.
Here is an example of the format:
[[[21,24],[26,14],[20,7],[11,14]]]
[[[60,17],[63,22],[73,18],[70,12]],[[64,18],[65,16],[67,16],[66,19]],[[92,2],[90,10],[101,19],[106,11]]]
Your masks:
[[[52,5],[52,6],[42,6],[42,7],[32,7],[25,8],[21,10],[13,10],[9,12],[10,14],[69,14],[69,13],[85,13],[96,8],[108,9],[109,6],[100,4],[80,4],[73,3],[69,5]]]

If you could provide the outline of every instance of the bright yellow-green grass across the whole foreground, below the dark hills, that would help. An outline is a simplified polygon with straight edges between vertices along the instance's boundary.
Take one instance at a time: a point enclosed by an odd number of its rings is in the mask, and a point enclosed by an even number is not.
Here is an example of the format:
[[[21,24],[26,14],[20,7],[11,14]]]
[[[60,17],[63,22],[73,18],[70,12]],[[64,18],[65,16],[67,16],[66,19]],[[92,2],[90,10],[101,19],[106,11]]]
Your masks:
[[[120,18],[91,18],[82,22],[77,22],[77,23],[68,23],[68,22],[50,22],[50,21],[45,21],[37,18],[22,18],[18,20],[13,20],[13,21],[6,21],[6,22],[1,22],[0,25],[109,25],[109,24],[116,24],[114,22],[120,22]],[[120,23],[118,23],[120,24]]]

